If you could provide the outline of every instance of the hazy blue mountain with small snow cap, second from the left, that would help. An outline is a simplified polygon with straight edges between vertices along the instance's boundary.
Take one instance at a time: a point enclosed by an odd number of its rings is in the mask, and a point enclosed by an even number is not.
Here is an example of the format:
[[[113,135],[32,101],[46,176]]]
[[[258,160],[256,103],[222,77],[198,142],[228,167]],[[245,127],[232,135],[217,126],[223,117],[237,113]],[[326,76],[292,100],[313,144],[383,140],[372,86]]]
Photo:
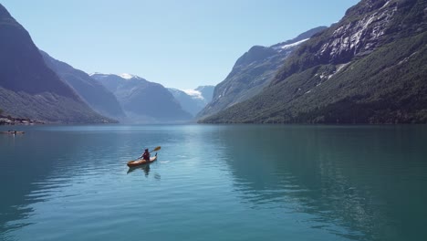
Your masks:
[[[182,110],[168,89],[138,76],[123,74],[92,74],[119,100],[131,121],[174,122],[189,121],[190,113]]]

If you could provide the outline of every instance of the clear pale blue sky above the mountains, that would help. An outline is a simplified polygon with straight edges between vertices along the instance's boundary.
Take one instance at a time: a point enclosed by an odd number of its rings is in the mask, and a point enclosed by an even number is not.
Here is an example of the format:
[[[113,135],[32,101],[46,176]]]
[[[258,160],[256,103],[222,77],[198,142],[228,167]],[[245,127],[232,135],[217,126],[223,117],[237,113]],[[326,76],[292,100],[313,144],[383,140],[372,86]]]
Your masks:
[[[358,0],[3,0],[36,46],[88,73],[165,87],[223,81],[237,58],[337,22]]]

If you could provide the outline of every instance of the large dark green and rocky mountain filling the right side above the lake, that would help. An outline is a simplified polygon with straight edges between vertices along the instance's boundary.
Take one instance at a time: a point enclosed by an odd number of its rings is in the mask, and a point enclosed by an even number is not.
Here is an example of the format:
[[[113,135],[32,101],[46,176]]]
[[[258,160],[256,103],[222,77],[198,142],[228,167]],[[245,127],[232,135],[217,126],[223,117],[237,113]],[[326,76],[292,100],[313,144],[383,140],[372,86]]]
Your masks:
[[[362,0],[260,94],[202,122],[427,122],[427,1]]]

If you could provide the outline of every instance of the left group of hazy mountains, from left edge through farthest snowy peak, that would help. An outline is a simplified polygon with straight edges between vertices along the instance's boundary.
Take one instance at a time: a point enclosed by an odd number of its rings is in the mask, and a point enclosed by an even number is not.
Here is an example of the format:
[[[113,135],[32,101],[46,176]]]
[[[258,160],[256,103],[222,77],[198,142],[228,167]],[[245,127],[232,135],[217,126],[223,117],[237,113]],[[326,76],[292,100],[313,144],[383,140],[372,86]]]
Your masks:
[[[39,50],[3,5],[0,33],[2,123],[190,122],[212,99],[213,86],[166,89],[130,74],[73,68]]]

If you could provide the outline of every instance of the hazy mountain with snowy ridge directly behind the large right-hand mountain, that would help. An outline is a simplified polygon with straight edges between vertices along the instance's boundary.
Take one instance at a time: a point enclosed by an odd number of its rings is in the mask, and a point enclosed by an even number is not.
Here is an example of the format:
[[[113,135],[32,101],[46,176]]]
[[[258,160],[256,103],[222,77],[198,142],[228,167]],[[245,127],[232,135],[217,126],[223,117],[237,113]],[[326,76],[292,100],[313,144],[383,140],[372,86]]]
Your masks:
[[[254,46],[238,58],[231,73],[213,91],[213,100],[199,114],[198,119],[225,110],[261,92],[275,77],[278,68],[300,44],[325,29],[318,26],[271,47]]]

